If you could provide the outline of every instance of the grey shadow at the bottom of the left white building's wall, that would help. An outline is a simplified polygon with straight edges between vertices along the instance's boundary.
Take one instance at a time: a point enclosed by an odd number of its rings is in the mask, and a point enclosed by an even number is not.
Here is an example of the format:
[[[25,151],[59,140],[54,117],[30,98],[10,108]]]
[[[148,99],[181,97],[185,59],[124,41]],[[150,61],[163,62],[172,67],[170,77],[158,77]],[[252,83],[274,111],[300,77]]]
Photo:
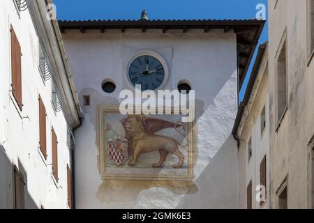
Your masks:
[[[35,201],[28,191],[27,171],[24,169],[20,160],[17,169],[24,177],[24,208],[38,209]],[[14,164],[8,159],[6,151],[0,146],[0,209],[15,208],[15,183],[14,183]]]

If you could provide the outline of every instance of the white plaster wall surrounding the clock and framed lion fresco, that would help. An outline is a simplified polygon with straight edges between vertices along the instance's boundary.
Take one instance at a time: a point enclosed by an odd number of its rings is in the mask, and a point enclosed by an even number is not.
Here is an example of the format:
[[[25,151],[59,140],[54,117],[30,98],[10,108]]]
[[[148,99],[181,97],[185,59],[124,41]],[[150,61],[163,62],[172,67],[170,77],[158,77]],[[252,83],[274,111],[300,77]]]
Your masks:
[[[165,34],[154,30],[147,33],[106,30],[104,34],[100,31],[84,34],[66,31],[63,38],[80,101],[82,95],[91,95],[91,105],[83,106],[82,128],[75,132],[77,208],[193,208],[193,202],[187,201],[197,198],[203,199],[200,201],[202,208],[238,207],[237,148],[230,139],[237,114],[237,45],[232,31],[204,33],[189,30],[188,33],[181,33],[170,30]],[[181,79],[187,79],[195,89],[199,132],[194,180],[200,191],[185,196],[176,195],[163,187],[154,187],[142,190],[133,201],[101,202],[96,197],[101,183],[97,168],[96,105],[121,101],[120,91],[129,88],[125,72],[127,59],[143,49],[154,50],[167,61],[170,80],[165,89],[176,89]],[[101,89],[101,83],[107,78],[117,84],[112,94]],[[216,157],[220,148],[226,152]],[[216,162],[211,164],[212,160]],[[224,164],[230,168],[226,169]],[[204,185],[209,176],[213,176],[210,188]],[[225,187],[221,187],[222,183]],[[218,190],[225,196],[217,197]],[[207,195],[202,196],[204,194]]]

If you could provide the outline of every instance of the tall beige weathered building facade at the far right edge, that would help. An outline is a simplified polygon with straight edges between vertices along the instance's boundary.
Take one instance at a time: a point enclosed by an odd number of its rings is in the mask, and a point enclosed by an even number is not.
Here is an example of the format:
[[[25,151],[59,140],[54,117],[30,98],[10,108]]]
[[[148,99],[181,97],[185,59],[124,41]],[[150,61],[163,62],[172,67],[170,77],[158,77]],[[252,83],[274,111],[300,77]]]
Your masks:
[[[269,1],[271,208],[313,208],[314,1]]]

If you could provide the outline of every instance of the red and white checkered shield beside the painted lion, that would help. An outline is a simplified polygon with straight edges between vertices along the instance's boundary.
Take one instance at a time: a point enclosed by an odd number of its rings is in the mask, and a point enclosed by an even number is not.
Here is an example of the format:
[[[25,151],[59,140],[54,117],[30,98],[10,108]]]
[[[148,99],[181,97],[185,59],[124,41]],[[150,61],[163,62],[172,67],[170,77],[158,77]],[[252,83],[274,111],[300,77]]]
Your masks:
[[[108,141],[109,160],[120,166],[128,160],[128,141],[116,139]]]

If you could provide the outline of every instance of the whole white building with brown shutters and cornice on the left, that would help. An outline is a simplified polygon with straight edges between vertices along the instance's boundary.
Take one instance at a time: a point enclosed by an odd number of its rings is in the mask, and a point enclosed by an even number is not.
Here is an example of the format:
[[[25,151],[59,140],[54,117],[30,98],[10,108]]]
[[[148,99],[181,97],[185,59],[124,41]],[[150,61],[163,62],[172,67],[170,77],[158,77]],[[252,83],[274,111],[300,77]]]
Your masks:
[[[0,8],[0,208],[72,208],[80,107],[45,1]]]

